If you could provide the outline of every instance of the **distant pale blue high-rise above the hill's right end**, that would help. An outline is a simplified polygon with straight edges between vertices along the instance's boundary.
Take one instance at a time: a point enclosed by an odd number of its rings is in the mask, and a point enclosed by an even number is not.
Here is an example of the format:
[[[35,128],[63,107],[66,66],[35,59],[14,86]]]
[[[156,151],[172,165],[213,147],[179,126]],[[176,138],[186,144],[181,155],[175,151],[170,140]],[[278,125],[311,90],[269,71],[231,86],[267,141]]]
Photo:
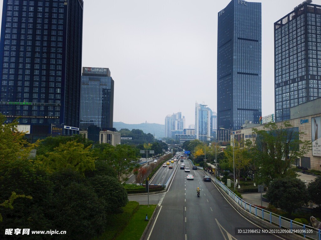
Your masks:
[[[181,131],[185,128],[185,116],[182,116],[181,112],[173,113],[173,115],[167,115],[165,117],[165,137],[166,138],[175,138],[175,134],[178,132],[172,131]]]

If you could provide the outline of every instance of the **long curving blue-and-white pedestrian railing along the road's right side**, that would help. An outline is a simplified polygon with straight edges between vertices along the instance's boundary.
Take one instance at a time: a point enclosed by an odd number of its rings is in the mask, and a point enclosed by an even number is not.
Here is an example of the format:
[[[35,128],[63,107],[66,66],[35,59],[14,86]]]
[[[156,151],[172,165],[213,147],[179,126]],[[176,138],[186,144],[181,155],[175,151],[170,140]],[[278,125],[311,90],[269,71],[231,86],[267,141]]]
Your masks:
[[[214,182],[218,184],[241,208],[252,213],[256,217],[261,218],[262,220],[269,221],[275,227],[290,229],[294,233],[301,235],[303,237],[308,237],[315,240],[321,240],[321,230],[307,226],[305,224],[293,221],[291,219],[284,218],[280,215],[277,215],[273,212],[266,211],[262,208],[251,205],[241,198],[239,198],[235,193],[233,193],[228,187],[226,187],[221,181],[214,178]]]

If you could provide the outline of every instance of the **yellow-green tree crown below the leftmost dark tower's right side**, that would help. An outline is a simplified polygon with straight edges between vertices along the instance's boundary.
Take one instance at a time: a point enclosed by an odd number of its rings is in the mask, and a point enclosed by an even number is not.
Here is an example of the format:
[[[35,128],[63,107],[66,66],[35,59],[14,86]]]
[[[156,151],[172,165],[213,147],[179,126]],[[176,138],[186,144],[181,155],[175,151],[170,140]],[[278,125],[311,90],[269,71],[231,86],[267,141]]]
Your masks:
[[[95,168],[95,158],[90,149],[91,146],[84,148],[83,144],[76,141],[60,143],[53,152],[49,152],[46,156],[38,156],[38,161],[42,162],[48,171],[71,168],[84,174],[85,171],[92,171]]]

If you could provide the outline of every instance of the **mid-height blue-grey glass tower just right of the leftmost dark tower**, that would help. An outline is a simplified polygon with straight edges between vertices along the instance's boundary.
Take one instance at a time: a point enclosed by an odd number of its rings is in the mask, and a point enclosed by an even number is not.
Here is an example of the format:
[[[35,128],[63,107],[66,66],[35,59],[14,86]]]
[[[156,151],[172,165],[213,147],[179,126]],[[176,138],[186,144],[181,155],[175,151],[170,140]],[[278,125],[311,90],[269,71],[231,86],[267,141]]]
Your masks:
[[[82,68],[80,129],[113,127],[114,80],[109,68]]]

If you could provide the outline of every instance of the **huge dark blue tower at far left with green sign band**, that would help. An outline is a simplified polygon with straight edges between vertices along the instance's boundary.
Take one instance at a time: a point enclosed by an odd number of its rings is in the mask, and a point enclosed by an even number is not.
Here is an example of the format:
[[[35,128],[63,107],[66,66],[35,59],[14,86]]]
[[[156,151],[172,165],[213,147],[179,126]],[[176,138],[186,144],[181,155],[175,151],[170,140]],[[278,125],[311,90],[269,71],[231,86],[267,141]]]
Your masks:
[[[34,138],[50,134],[51,124],[77,133],[82,12],[82,0],[3,2],[0,112],[8,122],[21,116]]]

